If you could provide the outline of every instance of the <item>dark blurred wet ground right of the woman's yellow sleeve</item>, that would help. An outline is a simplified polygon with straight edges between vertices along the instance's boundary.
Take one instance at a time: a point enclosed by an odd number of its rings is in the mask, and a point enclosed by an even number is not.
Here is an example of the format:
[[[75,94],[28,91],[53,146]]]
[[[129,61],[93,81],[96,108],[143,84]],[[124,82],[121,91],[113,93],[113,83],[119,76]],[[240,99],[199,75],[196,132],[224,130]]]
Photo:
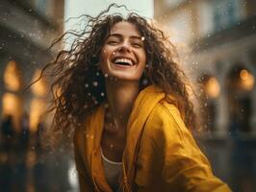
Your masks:
[[[208,138],[200,145],[214,173],[233,191],[256,191],[256,137]]]

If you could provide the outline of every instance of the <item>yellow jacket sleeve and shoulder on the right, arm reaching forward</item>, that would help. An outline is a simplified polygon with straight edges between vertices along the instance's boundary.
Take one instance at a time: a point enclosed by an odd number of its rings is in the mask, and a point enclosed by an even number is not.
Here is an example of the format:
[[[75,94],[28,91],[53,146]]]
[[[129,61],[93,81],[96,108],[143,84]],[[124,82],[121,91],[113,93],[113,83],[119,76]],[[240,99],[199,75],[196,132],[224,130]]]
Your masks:
[[[156,108],[146,122],[135,182],[139,192],[230,191],[213,175],[178,109],[170,105]]]

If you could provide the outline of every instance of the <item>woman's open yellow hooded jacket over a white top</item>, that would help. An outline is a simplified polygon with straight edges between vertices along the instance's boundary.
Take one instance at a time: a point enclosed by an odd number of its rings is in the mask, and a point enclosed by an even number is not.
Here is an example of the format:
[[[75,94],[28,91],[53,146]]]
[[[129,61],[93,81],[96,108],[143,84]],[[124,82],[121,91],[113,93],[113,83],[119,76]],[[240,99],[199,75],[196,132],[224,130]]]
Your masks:
[[[112,192],[101,162],[103,105],[95,109],[74,135],[75,162],[81,191]],[[211,165],[186,128],[180,112],[154,85],[139,94],[127,125],[122,157],[122,190],[230,191],[213,175]]]

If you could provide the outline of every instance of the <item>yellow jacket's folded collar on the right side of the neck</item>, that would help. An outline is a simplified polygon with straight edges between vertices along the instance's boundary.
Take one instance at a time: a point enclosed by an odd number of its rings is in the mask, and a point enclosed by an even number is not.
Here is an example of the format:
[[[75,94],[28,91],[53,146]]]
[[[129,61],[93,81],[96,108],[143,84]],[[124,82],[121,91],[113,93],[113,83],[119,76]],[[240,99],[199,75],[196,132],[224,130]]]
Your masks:
[[[165,93],[159,87],[150,85],[141,91],[131,112],[123,154],[124,169],[126,169],[124,173],[127,174],[127,182],[131,187],[133,187],[135,165],[144,124],[153,108],[164,98]]]

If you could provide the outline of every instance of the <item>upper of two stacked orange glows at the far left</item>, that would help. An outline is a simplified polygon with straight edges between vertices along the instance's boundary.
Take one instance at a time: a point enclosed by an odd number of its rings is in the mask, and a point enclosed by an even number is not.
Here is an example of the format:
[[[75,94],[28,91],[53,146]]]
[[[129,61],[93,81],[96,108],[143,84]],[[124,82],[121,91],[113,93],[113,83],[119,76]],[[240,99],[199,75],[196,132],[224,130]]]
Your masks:
[[[4,73],[4,84],[8,90],[18,91],[21,88],[21,76],[16,62],[11,60],[7,63]]]

